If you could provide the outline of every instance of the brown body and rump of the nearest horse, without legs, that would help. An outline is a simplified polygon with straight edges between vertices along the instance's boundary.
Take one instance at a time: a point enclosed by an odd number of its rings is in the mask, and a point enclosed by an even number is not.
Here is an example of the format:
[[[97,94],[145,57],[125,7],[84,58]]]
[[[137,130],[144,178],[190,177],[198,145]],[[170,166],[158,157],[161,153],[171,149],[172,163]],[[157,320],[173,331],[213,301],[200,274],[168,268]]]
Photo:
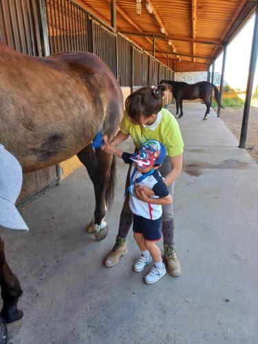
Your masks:
[[[90,53],[34,58],[0,45],[1,143],[25,171],[56,164],[78,153],[103,129],[110,103],[122,116],[116,78]],[[110,127],[110,126],[109,126]]]

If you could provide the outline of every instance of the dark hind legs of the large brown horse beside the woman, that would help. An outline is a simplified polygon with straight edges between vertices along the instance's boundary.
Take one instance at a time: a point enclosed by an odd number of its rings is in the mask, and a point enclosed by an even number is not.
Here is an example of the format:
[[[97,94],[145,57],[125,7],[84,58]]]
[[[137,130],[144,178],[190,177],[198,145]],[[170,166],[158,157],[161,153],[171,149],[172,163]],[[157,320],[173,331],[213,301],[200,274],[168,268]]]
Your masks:
[[[113,185],[109,181],[111,175],[112,155],[104,151],[97,150],[96,153],[92,149],[92,145],[87,146],[85,149],[77,154],[80,162],[82,162],[94,184],[95,192],[95,211],[94,219],[87,227],[89,233],[95,232],[95,237],[98,240],[105,239],[107,236],[107,223],[105,217],[105,199],[107,196],[108,187]]]

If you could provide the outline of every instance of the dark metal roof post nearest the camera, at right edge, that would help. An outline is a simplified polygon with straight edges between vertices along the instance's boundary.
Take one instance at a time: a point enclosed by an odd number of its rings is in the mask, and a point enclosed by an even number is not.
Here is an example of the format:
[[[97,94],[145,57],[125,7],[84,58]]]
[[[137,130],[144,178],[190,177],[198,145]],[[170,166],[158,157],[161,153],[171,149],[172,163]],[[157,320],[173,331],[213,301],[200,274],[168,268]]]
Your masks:
[[[246,100],[244,103],[244,114],[243,121],[241,126],[241,136],[239,147],[246,148],[246,137],[248,129],[248,117],[250,111],[250,103],[252,98],[252,85],[255,78],[255,67],[257,63],[257,50],[258,50],[258,0],[256,1],[256,10],[255,10],[255,25],[252,34],[252,49],[250,54],[250,63],[249,63],[249,72],[248,80],[246,87]]]

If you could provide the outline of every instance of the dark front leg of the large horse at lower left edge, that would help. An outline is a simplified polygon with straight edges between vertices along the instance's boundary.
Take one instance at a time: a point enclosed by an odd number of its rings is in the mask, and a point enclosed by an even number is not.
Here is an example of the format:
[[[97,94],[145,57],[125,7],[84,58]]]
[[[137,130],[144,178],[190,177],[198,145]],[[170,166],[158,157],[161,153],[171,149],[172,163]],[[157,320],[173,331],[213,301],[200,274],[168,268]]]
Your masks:
[[[0,237],[0,286],[1,297],[3,299],[3,308],[1,316],[6,323],[11,323],[21,319],[23,312],[17,308],[17,302],[21,297],[22,290],[17,277],[6,262],[3,240]]]

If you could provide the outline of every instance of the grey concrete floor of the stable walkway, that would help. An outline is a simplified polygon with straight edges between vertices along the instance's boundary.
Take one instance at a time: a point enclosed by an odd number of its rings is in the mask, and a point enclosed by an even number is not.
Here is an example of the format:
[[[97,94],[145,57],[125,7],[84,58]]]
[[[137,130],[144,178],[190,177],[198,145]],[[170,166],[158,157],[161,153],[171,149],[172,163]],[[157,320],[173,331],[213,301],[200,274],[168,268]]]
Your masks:
[[[24,292],[13,344],[257,343],[258,165],[213,111],[208,121],[204,105],[186,103],[184,111],[184,171],[174,197],[182,276],[144,284],[145,272],[131,269],[138,257],[132,233],[128,254],[114,268],[103,266],[127,166],[118,162],[109,235],[100,242],[84,231],[94,196],[80,169],[26,206],[28,234],[3,233]]]

